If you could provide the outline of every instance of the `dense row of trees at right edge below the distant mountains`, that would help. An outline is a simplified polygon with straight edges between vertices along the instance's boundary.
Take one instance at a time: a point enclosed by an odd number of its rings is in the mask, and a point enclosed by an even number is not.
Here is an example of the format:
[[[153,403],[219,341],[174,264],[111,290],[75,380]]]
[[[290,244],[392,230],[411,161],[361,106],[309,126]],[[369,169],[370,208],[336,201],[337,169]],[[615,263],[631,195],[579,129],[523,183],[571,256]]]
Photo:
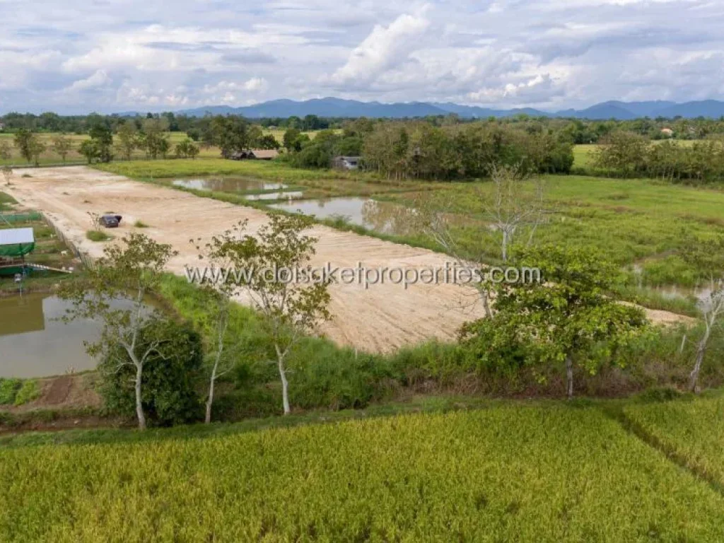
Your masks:
[[[669,182],[724,179],[724,138],[688,144],[652,143],[633,132],[613,132],[597,150],[595,165],[622,177],[657,177]]]

